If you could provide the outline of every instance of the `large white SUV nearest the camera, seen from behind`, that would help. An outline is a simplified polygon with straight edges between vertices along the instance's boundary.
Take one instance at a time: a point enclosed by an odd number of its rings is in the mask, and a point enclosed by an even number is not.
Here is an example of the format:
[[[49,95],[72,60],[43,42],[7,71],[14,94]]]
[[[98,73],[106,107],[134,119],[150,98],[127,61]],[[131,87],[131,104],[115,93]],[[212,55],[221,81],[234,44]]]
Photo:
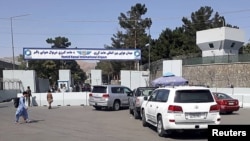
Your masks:
[[[144,100],[141,106],[142,125],[157,127],[159,136],[174,130],[206,130],[208,125],[220,124],[220,108],[209,88],[157,88]]]

